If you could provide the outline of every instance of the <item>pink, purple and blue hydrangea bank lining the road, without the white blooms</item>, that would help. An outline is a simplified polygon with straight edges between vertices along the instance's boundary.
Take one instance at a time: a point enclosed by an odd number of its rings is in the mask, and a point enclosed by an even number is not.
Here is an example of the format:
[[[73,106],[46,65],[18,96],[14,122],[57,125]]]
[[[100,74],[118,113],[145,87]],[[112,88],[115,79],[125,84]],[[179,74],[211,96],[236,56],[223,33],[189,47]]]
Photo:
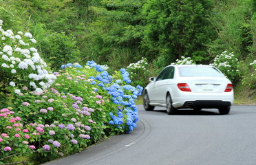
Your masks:
[[[14,95],[10,114],[17,121],[12,122],[22,122],[28,131],[23,135],[12,123],[1,122],[4,137],[0,139],[0,162],[8,162],[10,155],[31,151],[43,155],[42,162],[49,161],[81,151],[105,135],[129,133],[136,127],[138,111],[134,100],[141,95],[142,87],[129,85],[131,80],[125,69],[109,75],[107,67],[88,61],[85,67],[78,63],[64,65],[54,75],[57,79],[52,88],[38,93],[23,87]],[[0,119],[11,121],[12,116],[7,117],[1,115]],[[14,137],[16,141],[12,143]]]

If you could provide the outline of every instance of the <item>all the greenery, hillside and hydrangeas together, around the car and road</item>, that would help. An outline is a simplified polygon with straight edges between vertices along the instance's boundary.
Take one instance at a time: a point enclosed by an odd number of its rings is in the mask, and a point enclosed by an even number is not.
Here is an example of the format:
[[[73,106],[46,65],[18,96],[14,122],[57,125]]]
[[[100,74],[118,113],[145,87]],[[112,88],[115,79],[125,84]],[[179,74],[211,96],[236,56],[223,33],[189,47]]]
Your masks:
[[[43,162],[136,128],[171,63],[218,67],[256,102],[254,0],[0,0],[0,164]]]

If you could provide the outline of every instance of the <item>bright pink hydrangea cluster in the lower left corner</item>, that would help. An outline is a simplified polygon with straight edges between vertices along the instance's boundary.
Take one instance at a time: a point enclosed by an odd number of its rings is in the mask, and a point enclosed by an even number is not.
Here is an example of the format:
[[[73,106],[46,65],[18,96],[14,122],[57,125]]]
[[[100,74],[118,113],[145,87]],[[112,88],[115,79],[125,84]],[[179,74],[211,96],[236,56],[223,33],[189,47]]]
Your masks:
[[[33,141],[40,137],[34,124],[24,124],[19,116],[14,117],[12,108],[0,110],[0,159],[9,154],[29,152],[36,149]]]

